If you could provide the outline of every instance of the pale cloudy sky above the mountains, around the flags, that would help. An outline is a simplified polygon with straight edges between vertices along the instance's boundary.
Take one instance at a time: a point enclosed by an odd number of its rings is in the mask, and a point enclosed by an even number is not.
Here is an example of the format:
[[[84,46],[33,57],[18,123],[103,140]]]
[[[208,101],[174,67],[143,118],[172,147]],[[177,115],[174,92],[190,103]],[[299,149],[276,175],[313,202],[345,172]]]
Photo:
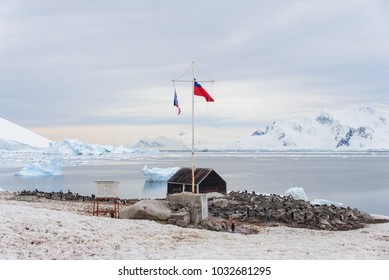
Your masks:
[[[0,117],[53,141],[203,139],[352,104],[389,107],[382,0],[0,0]],[[177,91],[182,113],[173,106]]]

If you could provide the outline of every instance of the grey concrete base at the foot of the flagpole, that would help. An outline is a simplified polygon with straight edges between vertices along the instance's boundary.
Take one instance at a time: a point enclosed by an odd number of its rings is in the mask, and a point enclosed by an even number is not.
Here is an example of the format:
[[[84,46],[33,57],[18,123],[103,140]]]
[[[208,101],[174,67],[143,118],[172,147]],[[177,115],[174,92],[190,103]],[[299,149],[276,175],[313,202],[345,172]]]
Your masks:
[[[206,194],[177,193],[168,194],[170,204],[185,205],[190,208],[190,222],[198,224],[208,218],[208,200]]]

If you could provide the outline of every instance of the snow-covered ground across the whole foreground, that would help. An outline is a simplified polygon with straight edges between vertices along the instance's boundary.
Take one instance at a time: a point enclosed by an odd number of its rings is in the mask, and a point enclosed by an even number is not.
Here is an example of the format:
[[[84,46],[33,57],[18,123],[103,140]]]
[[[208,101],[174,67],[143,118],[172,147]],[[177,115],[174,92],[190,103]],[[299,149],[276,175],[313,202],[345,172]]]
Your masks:
[[[343,232],[263,227],[243,235],[94,217],[90,202],[10,198],[0,192],[0,259],[389,259],[389,223]]]

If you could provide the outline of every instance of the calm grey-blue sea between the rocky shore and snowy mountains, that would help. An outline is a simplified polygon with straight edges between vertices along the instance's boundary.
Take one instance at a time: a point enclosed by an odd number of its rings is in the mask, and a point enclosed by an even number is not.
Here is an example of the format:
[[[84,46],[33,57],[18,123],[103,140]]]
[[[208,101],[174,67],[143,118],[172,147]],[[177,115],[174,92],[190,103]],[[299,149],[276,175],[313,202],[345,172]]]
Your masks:
[[[62,176],[17,177],[20,167],[0,167],[0,188],[20,191],[78,192],[90,195],[94,181],[120,182],[121,198],[166,196],[166,183],[144,181],[142,168],[190,166],[190,154],[160,153],[143,158],[99,159],[65,166]],[[345,206],[389,216],[389,153],[199,153],[196,166],[215,169],[228,191],[284,194],[304,188],[308,198],[342,202]]]

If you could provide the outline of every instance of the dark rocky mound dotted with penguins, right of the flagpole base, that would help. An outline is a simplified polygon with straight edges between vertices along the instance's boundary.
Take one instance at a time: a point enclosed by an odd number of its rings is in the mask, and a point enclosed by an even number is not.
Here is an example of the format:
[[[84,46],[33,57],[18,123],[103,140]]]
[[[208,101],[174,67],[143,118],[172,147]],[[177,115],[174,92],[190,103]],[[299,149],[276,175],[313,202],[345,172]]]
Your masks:
[[[350,207],[311,205],[292,196],[274,194],[230,192],[224,198],[210,200],[208,206],[210,216],[230,226],[244,222],[318,230],[352,230],[369,223],[389,222]]]

